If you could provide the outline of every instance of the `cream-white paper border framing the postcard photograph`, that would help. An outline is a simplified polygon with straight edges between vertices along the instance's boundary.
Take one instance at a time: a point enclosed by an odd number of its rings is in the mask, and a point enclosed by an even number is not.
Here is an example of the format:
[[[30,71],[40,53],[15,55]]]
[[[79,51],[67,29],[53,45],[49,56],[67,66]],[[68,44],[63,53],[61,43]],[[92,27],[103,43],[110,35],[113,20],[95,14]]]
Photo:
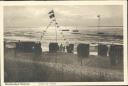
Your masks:
[[[3,7],[23,5],[123,5],[123,35],[124,35],[124,81],[123,82],[17,82],[8,83],[11,86],[47,86],[47,85],[127,85],[127,1],[1,1],[0,2],[0,52],[1,52],[1,85],[4,83],[4,56],[3,56]],[[118,13],[118,12],[117,12]]]

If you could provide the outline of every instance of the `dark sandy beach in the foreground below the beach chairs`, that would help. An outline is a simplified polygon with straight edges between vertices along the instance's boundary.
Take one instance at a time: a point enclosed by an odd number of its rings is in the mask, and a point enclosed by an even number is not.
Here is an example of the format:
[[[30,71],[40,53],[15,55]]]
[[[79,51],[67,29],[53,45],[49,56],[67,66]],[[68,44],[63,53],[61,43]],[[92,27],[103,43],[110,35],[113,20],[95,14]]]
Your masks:
[[[109,57],[79,58],[71,53],[41,55],[5,49],[5,82],[123,81],[123,67]]]

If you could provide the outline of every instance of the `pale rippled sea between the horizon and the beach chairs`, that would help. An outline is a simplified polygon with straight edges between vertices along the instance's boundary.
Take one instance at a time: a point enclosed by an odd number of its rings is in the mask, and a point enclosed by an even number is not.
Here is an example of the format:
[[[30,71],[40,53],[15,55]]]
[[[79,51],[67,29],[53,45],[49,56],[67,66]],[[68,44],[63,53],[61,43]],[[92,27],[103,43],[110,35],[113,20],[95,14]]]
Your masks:
[[[73,30],[77,30],[78,32],[73,32]],[[79,43],[90,44],[92,47],[98,43],[107,45],[123,44],[123,27],[50,27],[47,30],[42,27],[4,28],[4,41],[11,43],[19,40],[39,41],[41,42],[43,51],[48,51],[48,46],[51,42],[57,42],[59,45],[63,44],[63,46],[72,43],[75,45],[74,53],[76,53],[76,47]],[[8,47],[12,46],[8,45]],[[92,51],[95,51],[94,48],[92,48]]]

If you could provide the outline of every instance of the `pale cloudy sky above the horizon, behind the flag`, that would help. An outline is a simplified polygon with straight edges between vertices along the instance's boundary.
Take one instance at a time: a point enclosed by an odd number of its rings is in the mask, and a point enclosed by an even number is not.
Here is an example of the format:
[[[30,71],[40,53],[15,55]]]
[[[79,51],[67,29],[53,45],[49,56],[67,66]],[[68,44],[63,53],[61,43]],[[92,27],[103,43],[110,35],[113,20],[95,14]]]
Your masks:
[[[55,11],[60,26],[122,26],[123,8],[120,5],[44,5],[4,7],[5,27],[42,27],[49,24],[48,12]]]

